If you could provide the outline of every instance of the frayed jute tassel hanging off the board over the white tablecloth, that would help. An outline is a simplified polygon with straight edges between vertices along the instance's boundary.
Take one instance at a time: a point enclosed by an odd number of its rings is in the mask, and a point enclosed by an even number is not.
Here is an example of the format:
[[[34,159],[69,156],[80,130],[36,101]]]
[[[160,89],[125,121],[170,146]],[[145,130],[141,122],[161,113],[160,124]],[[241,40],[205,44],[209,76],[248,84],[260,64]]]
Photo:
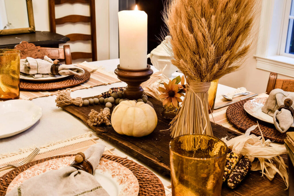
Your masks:
[[[56,96],[57,98],[55,99],[55,102],[57,107],[60,107],[61,105],[78,105],[81,107],[83,105],[81,97],[71,97],[71,90],[69,88],[63,91],[57,91]]]

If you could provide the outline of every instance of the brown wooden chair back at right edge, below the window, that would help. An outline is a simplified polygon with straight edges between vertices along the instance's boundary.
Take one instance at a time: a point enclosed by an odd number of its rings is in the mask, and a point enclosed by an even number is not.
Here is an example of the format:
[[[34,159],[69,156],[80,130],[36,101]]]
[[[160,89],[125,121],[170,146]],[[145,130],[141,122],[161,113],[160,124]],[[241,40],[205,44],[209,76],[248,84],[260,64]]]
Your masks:
[[[277,79],[277,73],[270,73],[268,78],[268,86],[266,87],[266,93],[270,94],[275,88],[280,88],[283,91],[294,92],[294,80],[291,79]]]

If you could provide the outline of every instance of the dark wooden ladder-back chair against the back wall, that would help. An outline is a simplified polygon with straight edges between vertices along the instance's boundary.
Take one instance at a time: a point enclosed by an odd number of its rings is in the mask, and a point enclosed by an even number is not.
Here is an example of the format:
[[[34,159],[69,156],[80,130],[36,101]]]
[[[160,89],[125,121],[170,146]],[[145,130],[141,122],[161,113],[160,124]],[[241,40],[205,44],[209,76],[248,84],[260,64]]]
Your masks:
[[[69,15],[61,18],[55,18],[55,5],[64,3],[86,3],[90,6],[90,16],[82,15]],[[72,52],[72,59],[78,58],[92,58],[92,61],[97,61],[97,43],[96,43],[96,19],[95,19],[95,0],[49,0],[49,19],[50,30],[56,33],[56,24],[76,23],[76,22],[89,22],[91,25],[91,35],[81,33],[71,33],[66,35],[70,41],[87,41],[91,40],[92,52]]]

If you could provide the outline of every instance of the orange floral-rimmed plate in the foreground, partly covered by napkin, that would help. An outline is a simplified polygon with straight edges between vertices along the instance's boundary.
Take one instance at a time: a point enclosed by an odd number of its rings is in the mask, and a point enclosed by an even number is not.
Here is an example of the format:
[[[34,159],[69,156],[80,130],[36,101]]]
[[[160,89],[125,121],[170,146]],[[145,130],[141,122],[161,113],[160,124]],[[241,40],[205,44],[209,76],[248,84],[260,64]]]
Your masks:
[[[12,180],[6,193],[31,177],[49,170],[58,170],[62,167],[69,166],[74,161],[74,158],[75,156],[56,158],[33,165]],[[94,177],[111,196],[137,196],[139,193],[139,183],[133,172],[115,161],[102,158],[96,167]]]

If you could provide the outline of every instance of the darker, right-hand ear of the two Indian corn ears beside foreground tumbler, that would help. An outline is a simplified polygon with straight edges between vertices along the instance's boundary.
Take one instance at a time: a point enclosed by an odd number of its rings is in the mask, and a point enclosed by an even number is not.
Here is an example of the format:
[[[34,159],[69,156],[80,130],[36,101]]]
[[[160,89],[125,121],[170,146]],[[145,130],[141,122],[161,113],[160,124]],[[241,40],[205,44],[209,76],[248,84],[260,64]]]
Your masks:
[[[248,158],[242,158],[231,172],[227,183],[228,187],[235,188],[245,178],[251,169],[251,161]]]

